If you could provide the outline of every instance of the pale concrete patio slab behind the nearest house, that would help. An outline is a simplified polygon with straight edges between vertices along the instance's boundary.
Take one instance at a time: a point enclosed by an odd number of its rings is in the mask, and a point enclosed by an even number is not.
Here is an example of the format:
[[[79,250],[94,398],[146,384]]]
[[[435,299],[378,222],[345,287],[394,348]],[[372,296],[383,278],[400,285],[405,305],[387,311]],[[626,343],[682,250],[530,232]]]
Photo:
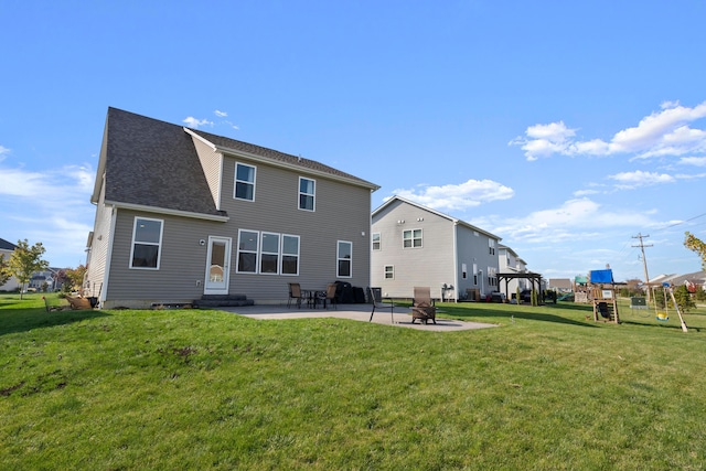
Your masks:
[[[351,319],[354,321],[368,322],[373,307],[371,304],[340,304],[339,309],[310,309],[302,307],[287,308],[287,304],[256,304],[242,308],[217,308],[223,311],[233,312],[245,315],[250,319],[272,320],[272,319],[302,319],[302,318],[340,318]],[[394,323],[393,323],[394,318]],[[375,309],[373,321],[377,324],[394,325],[400,328],[434,331],[434,332],[454,332],[470,329],[485,329],[498,327],[495,324],[485,324],[480,322],[466,322],[451,319],[439,319],[434,324],[411,323],[409,308],[395,307],[394,313],[391,315],[389,308]]]

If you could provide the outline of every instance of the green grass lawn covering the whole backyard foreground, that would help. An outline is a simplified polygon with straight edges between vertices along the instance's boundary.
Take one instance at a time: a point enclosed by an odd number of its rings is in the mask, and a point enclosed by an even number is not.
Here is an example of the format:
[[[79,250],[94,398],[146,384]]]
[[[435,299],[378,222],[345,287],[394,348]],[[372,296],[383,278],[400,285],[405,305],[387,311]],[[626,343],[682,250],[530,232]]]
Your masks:
[[[0,296],[0,469],[706,469],[706,309],[424,332]],[[53,300],[52,302],[56,302]]]

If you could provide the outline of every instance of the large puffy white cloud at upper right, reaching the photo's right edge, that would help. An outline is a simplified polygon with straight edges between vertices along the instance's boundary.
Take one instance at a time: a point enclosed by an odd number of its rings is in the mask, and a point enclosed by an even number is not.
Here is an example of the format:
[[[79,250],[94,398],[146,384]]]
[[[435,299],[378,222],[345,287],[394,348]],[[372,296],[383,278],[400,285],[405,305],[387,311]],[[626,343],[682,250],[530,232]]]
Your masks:
[[[684,153],[706,153],[706,130],[694,129],[688,124],[706,117],[706,101],[688,108],[675,101],[665,101],[662,110],[640,120],[638,126],[620,130],[609,140],[575,140],[576,131],[564,121],[534,125],[525,136],[513,139],[511,146],[520,146],[528,161],[552,154],[611,156],[633,153],[637,159]]]

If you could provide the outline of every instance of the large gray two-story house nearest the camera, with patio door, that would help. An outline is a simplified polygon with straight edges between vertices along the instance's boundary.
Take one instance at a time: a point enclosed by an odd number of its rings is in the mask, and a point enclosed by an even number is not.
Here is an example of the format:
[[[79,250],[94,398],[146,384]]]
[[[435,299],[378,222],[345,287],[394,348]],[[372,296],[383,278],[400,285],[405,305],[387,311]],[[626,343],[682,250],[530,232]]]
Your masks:
[[[371,193],[322,163],[108,109],[84,292],[146,308],[370,283]]]

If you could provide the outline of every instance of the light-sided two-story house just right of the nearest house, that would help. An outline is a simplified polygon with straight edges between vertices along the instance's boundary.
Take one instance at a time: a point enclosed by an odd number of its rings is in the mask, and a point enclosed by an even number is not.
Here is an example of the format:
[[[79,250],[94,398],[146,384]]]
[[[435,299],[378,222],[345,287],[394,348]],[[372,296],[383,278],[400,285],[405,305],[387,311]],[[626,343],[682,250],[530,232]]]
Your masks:
[[[496,235],[399,196],[373,212],[372,234],[371,281],[383,296],[411,298],[415,286],[447,300],[498,290]]]

